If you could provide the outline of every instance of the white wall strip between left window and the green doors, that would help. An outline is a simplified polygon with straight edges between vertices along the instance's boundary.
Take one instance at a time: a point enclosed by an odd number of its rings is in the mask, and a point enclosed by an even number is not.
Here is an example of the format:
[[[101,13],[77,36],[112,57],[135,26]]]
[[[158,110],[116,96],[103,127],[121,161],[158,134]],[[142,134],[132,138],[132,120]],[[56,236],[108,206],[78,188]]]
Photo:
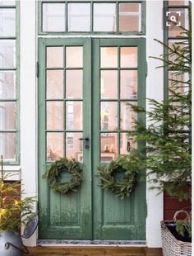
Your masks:
[[[21,1],[21,179],[25,196],[37,196],[35,1]],[[25,240],[36,245],[36,234]]]

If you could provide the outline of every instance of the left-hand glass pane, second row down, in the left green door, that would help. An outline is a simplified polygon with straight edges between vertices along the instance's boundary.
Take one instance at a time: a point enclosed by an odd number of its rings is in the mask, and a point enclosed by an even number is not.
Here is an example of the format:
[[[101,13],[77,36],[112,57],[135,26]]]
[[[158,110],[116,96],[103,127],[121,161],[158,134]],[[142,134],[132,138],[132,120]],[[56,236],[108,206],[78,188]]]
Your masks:
[[[63,70],[47,70],[47,98],[63,98]]]

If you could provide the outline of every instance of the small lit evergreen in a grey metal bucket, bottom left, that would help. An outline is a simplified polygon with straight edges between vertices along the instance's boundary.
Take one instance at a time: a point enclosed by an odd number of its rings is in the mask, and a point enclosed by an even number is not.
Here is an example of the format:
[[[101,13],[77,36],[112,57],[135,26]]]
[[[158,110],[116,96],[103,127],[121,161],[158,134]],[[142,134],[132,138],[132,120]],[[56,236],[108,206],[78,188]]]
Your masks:
[[[21,225],[25,225],[35,214],[33,211],[33,203],[35,197],[21,197],[21,183],[16,181],[11,183],[7,180],[10,174],[3,171],[3,163],[1,157],[1,173],[0,173],[0,255],[3,256],[19,256],[23,248],[20,235]]]

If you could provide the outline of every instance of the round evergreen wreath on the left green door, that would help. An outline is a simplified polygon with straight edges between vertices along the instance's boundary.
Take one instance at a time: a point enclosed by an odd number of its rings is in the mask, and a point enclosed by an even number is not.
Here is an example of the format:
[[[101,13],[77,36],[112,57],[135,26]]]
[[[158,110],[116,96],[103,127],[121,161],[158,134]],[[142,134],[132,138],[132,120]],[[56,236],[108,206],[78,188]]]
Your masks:
[[[60,183],[62,172],[72,174],[72,178],[67,183]],[[59,159],[50,165],[48,171],[44,173],[43,178],[47,178],[48,185],[55,192],[67,194],[68,192],[76,192],[76,188],[81,185],[82,175],[79,162],[76,159]]]

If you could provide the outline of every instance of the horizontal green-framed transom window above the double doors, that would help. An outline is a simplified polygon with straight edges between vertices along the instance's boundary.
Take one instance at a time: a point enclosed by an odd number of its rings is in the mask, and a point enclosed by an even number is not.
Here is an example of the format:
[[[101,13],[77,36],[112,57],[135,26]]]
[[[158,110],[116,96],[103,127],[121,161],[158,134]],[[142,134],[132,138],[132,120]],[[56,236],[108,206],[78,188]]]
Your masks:
[[[145,1],[39,1],[39,34],[143,34]]]

